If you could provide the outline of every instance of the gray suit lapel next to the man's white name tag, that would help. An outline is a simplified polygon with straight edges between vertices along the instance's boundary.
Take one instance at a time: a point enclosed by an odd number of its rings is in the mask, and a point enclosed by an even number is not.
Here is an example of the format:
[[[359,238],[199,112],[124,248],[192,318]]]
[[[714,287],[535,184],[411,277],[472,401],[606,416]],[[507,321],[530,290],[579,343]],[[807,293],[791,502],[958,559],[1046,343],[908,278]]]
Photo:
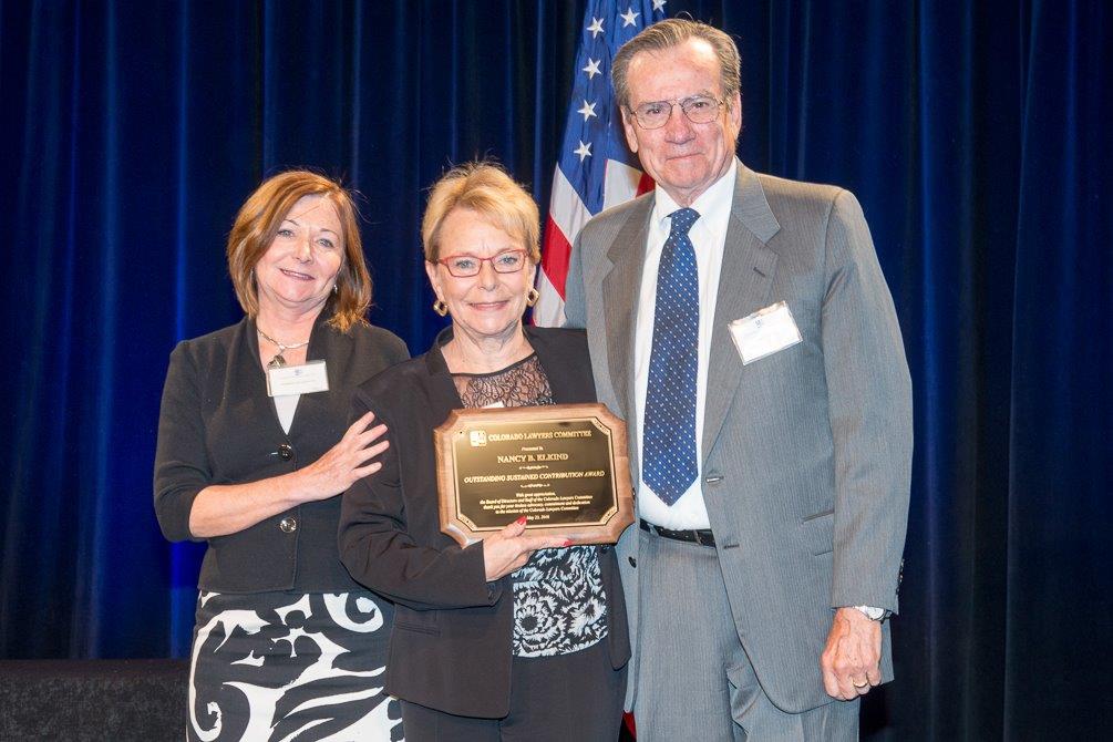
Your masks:
[[[757,176],[739,165],[711,334],[703,410],[705,458],[719,437],[742,375],[742,362],[727,325],[768,304],[777,270],[777,254],[768,243],[779,229]]]

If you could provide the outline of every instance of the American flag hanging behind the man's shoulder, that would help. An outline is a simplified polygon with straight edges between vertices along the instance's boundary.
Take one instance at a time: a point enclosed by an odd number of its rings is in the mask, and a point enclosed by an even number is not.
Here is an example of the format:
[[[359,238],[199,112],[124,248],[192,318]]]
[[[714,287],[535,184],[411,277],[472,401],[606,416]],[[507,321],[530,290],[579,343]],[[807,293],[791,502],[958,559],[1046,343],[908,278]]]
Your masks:
[[[652,189],[627,148],[611,88],[611,60],[623,43],[664,18],[666,0],[591,0],[583,14],[564,142],[553,172],[533,308],[536,325],[564,324],[564,278],[572,243],[588,219]]]

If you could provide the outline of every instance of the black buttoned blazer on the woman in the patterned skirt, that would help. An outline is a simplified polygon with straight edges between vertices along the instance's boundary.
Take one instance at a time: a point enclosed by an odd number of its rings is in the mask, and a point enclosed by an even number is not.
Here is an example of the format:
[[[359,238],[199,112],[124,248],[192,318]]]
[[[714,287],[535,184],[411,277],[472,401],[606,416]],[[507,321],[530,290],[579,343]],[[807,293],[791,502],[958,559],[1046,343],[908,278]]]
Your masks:
[[[347,429],[355,387],[410,356],[384,329],[356,326],[345,335],[321,314],[306,357],[327,363],[328,392],[302,395],[289,435],[267,396],[253,319],[183,340],[170,354],[155,455],[155,513],[167,538],[193,538],[189,511],[205,487],[286,474],[319,458]],[[220,593],[357,587],[336,553],[339,501],[305,503],[209,538],[198,586]],[[289,522],[279,527],[286,517],[295,530]]]

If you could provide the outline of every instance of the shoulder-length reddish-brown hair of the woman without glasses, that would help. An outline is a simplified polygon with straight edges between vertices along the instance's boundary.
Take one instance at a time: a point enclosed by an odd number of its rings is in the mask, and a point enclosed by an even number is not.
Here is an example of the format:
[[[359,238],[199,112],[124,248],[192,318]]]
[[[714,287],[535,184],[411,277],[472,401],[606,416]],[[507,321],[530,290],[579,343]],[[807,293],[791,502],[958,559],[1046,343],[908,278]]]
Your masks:
[[[353,325],[367,324],[372,286],[363,258],[358,211],[352,195],[337,181],[308,170],[287,170],[264,180],[239,207],[228,235],[228,273],[239,306],[255,317],[259,313],[255,266],[270,248],[289,210],[305,196],[327,198],[341,220],[344,261],[336,274],[336,293],[328,297],[324,311],[332,313],[329,325],[346,333]]]

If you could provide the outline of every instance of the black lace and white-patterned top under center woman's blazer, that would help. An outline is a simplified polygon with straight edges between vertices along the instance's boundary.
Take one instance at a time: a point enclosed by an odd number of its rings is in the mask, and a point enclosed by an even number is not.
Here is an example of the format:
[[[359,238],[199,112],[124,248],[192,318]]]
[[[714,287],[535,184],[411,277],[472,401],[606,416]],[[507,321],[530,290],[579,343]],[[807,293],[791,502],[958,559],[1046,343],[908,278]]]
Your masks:
[[[453,374],[465,407],[553,404],[536,355],[491,374]],[[607,601],[594,546],[543,548],[513,574],[513,652],[520,657],[578,652],[607,636]]]

